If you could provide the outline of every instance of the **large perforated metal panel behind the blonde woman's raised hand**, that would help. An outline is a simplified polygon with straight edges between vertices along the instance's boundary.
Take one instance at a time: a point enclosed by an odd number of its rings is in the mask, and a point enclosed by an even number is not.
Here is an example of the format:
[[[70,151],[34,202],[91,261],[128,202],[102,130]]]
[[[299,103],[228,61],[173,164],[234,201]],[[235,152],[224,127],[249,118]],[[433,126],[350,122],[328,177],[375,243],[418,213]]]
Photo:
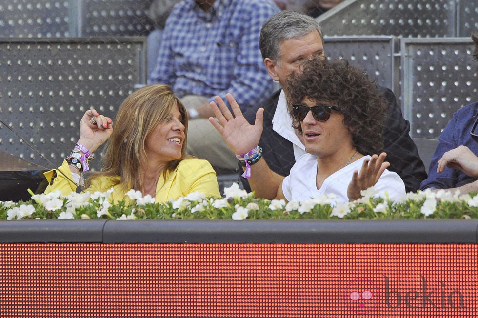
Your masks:
[[[3,39],[0,54],[0,117],[20,136],[0,124],[0,150],[45,167],[78,140],[85,110],[114,117],[145,80],[142,38]]]

